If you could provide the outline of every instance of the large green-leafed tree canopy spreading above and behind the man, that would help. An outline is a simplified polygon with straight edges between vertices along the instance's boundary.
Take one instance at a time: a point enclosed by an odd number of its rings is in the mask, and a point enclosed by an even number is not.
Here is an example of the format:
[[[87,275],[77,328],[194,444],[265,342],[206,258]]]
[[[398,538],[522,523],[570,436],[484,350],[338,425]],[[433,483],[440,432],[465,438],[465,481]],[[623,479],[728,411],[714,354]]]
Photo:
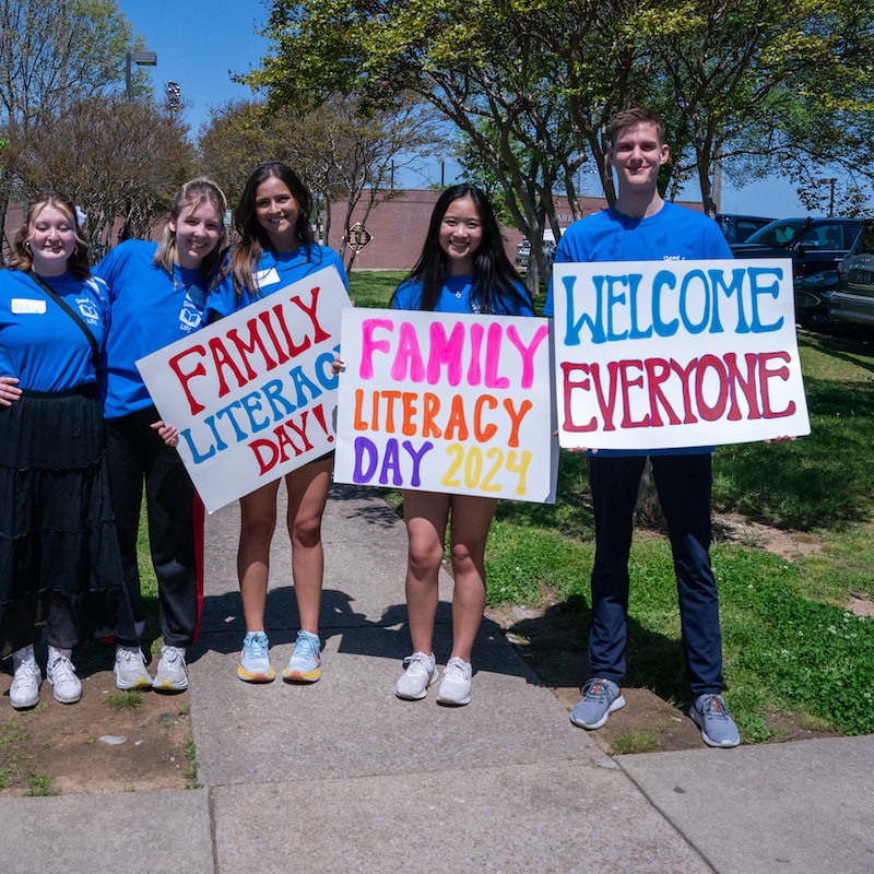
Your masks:
[[[575,211],[576,170],[589,164],[615,200],[604,126],[623,107],[665,116],[669,194],[697,175],[710,211],[718,165],[756,162],[801,180],[864,156],[872,3],[274,0],[271,54],[247,81],[274,106],[338,88],[377,105],[414,92],[491,170],[545,274],[538,243],[554,191]]]

